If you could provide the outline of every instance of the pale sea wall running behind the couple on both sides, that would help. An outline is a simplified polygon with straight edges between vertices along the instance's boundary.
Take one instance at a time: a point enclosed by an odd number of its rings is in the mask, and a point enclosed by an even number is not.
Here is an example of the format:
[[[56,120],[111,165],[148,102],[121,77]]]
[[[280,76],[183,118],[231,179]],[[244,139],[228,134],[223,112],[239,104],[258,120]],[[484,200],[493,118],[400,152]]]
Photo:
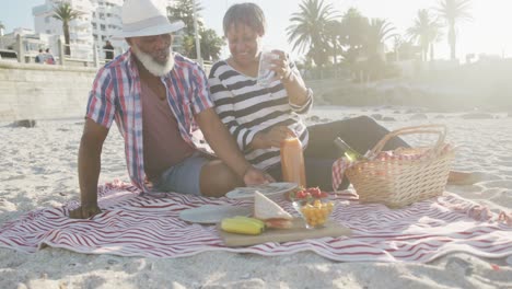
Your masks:
[[[0,122],[83,116],[95,67],[0,61]],[[512,113],[512,61],[459,66],[415,77],[354,83],[306,80],[316,105],[420,106],[438,112]]]

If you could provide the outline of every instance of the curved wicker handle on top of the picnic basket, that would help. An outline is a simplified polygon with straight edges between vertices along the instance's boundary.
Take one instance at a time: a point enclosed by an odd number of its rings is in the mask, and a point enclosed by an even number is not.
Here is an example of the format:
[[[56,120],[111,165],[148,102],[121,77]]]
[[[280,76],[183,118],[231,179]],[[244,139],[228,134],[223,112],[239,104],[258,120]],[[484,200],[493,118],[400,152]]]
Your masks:
[[[446,137],[446,126],[445,125],[422,125],[422,126],[414,126],[414,127],[405,127],[397,130],[393,130],[385,135],[375,147],[372,149],[372,155],[377,155],[384,146],[386,146],[387,141],[396,136],[403,135],[414,135],[414,134],[435,134],[439,135],[438,141],[434,146],[434,151],[439,152],[441,150],[441,146],[444,142]]]

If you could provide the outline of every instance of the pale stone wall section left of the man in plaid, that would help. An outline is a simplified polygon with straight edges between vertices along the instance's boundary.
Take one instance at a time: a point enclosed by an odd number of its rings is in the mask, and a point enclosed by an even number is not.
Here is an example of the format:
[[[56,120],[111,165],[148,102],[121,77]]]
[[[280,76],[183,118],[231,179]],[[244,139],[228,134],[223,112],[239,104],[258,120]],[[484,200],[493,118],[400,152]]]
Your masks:
[[[82,117],[96,70],[0,61],[0,122]]]

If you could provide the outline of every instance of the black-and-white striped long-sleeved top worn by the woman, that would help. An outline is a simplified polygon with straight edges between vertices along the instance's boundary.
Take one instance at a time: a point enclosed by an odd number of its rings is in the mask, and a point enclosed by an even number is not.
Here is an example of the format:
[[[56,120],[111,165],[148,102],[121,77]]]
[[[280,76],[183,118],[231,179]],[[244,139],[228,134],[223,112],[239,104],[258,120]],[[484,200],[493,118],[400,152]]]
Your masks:
[[[290,67],[295,76],[300,76],[293,62]],[[311,90],[307,90],[305,104],[292,104],[281,81],[263,88],[256,83],[256,78],[236,71],[225,60],[213,65],[209,82],[217,113],[254,166],[265,170],[280,162],[279,148],[249,147],[257,132],[274,126],[288,126],[306,148],[307,129],[299,114],[306,114],[312,107]]]

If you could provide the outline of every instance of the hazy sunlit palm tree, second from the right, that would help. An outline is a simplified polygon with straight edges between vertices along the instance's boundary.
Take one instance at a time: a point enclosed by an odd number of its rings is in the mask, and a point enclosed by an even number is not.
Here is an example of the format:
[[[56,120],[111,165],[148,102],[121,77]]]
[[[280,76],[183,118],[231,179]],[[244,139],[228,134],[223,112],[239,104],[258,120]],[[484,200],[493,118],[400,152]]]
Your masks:
[[[418,10],[418,16],[415,20],[415,25],[407,30],[407,36],[411,42],[416,42],[421,47],[421,56],[423,61],[427,61],[427,56],[430,49],[430,60],[433,60],[433,43],[441,37],[441,24],[437,19],[433,19],[429,10]]]

